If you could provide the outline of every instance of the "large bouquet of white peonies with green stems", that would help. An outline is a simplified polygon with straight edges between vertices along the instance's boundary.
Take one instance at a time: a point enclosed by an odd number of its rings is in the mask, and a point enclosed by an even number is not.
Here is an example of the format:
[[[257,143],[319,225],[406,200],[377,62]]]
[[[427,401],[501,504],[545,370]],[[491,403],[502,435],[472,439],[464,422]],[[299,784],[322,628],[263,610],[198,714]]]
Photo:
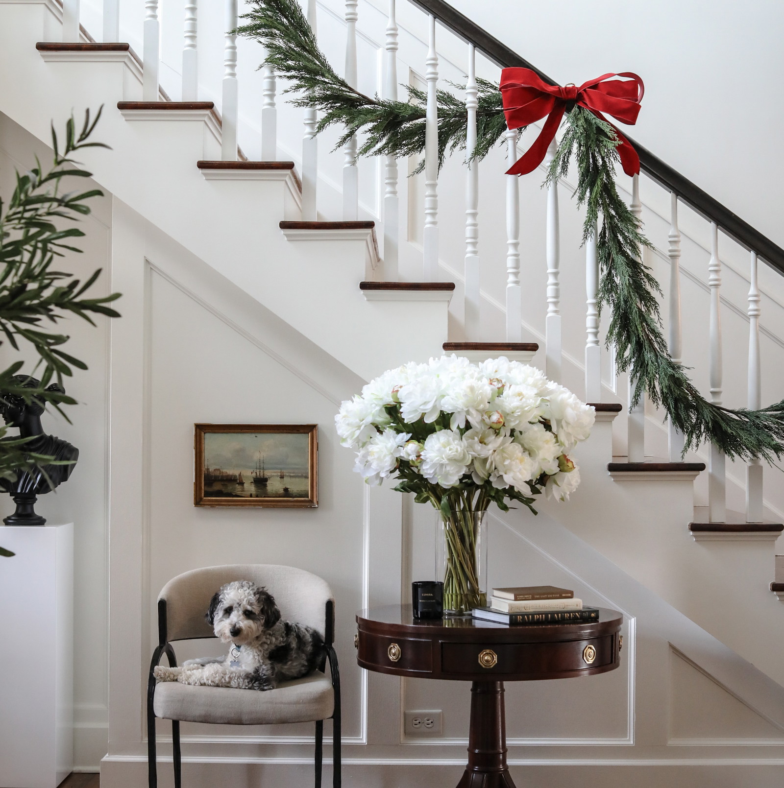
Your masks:
[[[357,450],[370,485],[439,510],[446,536],[445,607],[484,604],[476,567],[477,515],[534,496],[566,500],[580,483],[569,452],[591,433],[594,409],[533,366],[442,356],[389,370],[342,403],[335,426]]]

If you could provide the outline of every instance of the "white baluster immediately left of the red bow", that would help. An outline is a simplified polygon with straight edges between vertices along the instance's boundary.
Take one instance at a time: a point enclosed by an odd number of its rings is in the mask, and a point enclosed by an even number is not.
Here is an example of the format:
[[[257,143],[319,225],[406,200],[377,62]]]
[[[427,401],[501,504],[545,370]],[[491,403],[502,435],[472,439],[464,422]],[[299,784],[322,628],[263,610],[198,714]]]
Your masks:
[[[480,338],[480,265],[479,265],[479,162],[471,157],[476,147],[476,110],[479,107],[476,87],[476,49],[469,44],[469,76],[465,83],[465,339]]]

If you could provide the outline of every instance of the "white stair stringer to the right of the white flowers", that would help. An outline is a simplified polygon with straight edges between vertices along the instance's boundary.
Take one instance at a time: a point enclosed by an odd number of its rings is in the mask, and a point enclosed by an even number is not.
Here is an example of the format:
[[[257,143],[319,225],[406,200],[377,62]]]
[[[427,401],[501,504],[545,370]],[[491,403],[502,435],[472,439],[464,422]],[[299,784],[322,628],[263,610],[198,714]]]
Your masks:
[[[694,486],[689,476],[661,473],[659,480],[616,481],[607,471],[611,443],[612,422],[597,421],[591,437],[575,452],[582,481],[572,500],[537,500],[539,516],[525,522],[542,532],[548,527],[540,524],[545,519],[561,523],[784,684],[778,658],[784,630],[776,626],[782,611],[768,590],[771,541],[695,542],[688,527]]]

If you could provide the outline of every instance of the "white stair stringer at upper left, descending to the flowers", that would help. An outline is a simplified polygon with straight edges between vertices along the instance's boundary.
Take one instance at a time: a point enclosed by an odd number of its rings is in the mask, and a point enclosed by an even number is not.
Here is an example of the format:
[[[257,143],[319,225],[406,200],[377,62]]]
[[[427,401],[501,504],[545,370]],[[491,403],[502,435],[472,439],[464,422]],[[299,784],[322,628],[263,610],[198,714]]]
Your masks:
[[[95,180],[365,380],[439,354],[446,301],[413,303],[401,314],[360,293],[367,233],[318,245],[287,241],[278,222],[298,217],[284,213],[291,201],[282,181],[206,180],[196,168],[200,159],[219,158],[209,117],[126,120],[117,102],[140,99],[140,82],[125,60],[81,61],[74,53],[70,61],[44,61],[35,43],[54,18],[47,0],[3,2],[0,14],[0,67],[17,75],[2,80],[0,110],[13,121],[48,142],[52,118],[103,104],[95,138],[112,151],[79,155]]]

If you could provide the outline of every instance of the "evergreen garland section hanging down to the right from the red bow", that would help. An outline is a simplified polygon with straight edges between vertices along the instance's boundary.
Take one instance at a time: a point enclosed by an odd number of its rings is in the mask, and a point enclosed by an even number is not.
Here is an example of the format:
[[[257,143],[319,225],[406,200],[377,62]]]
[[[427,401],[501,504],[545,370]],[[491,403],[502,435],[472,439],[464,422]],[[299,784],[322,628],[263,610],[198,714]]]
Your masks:
[[[601,217],[599,310],[610,310],[607,345],[615,348],[618,370],[628,370],[634,381],[629,404],[636,405],[647,393],[684,434],[684,452],[712,442],[730,459],[761,458],[769,463],[780,459],[784,455],[784,401],[760,411],[719,407],[705,400],[686,368],[670,357],[656,299],[661,295],[659,283],[642,259],[643,247],[651,247],[651,242],[615,186],[615,166],[620,162],[617,146],[618,137],[608,123],[575,107],[567,116],[547,182],[565,176],[574,156],[575,195],[587,209],[584,241]]]

